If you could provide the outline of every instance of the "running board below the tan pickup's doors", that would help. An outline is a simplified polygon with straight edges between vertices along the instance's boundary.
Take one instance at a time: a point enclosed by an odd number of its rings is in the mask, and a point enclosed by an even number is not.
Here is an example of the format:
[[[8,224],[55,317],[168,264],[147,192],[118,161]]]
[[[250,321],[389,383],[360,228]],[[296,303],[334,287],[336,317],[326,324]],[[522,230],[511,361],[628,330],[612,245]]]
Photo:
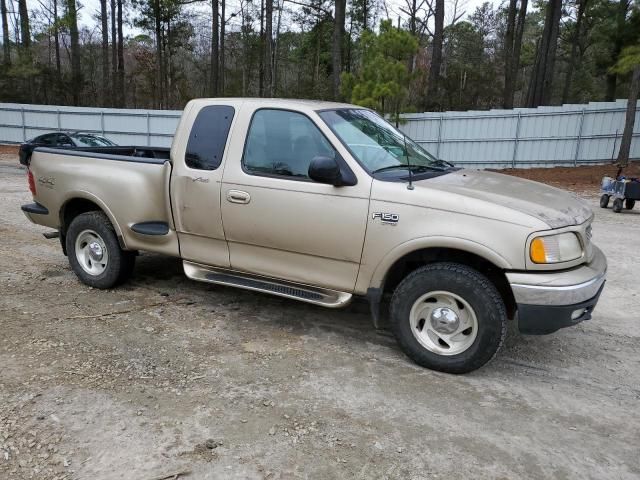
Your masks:
[[[182,265],[185,275],[192,280],[270,293],[279,297],[292,298],[328,308],[344,307],[351,301],[353,296],[346,292],[311,287],[250,273],[224,270],[188,261],[183,261]]]

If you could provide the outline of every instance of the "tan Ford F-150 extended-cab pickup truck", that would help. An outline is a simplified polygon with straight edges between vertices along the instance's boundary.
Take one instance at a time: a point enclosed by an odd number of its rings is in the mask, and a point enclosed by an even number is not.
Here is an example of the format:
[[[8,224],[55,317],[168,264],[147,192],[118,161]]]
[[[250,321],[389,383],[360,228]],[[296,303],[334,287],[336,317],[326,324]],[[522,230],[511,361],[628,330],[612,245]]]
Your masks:
[[[605,282],[585,202],[454,168],[348,104],[193,100],[170,151],[37,148],[28,179],[22,210],[87,285],[125,281],[147,251],[193,280],[330,308],[361,296],[445,372],[493,358],[509,319],[529,334],[589,319]]]

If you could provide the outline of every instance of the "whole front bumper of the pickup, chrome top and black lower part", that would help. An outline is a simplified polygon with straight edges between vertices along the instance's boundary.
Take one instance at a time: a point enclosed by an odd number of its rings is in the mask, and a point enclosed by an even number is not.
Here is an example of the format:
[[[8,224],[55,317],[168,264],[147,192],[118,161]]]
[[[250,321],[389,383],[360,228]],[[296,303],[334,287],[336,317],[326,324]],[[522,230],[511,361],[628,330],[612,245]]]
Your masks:
[[[595,246],[591,261],[571,270],[507,273],[520,332],[542,335],[589,320],[606,274],[607,259]]]

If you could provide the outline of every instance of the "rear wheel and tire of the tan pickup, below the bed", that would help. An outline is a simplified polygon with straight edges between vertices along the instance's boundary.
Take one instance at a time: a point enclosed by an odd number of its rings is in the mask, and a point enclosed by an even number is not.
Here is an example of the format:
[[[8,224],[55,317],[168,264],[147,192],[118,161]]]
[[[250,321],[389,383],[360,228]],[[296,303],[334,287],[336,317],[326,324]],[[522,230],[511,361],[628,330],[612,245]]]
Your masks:
[[[66,247],[71,268],[91,287],[114,287],[133,272],[135,252],[120,248],[113,225],[102,212],[75,217],[67,230]]]

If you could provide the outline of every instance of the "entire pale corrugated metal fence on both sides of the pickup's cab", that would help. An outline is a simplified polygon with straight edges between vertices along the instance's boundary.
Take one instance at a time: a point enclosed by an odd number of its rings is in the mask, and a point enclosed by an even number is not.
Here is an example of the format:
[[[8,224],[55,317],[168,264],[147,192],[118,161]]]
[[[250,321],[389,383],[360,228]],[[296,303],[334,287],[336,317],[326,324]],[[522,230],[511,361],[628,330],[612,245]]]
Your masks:
[[[436,156],[470,167],[603,163],[617,155],[626,101],[535,109],[418,113],[400,129]],[[53,130],[106,135],[121,145],[170,146],[180,111],[0,104],[0,142]],[[631,145],[640,158],[640,109]]]

